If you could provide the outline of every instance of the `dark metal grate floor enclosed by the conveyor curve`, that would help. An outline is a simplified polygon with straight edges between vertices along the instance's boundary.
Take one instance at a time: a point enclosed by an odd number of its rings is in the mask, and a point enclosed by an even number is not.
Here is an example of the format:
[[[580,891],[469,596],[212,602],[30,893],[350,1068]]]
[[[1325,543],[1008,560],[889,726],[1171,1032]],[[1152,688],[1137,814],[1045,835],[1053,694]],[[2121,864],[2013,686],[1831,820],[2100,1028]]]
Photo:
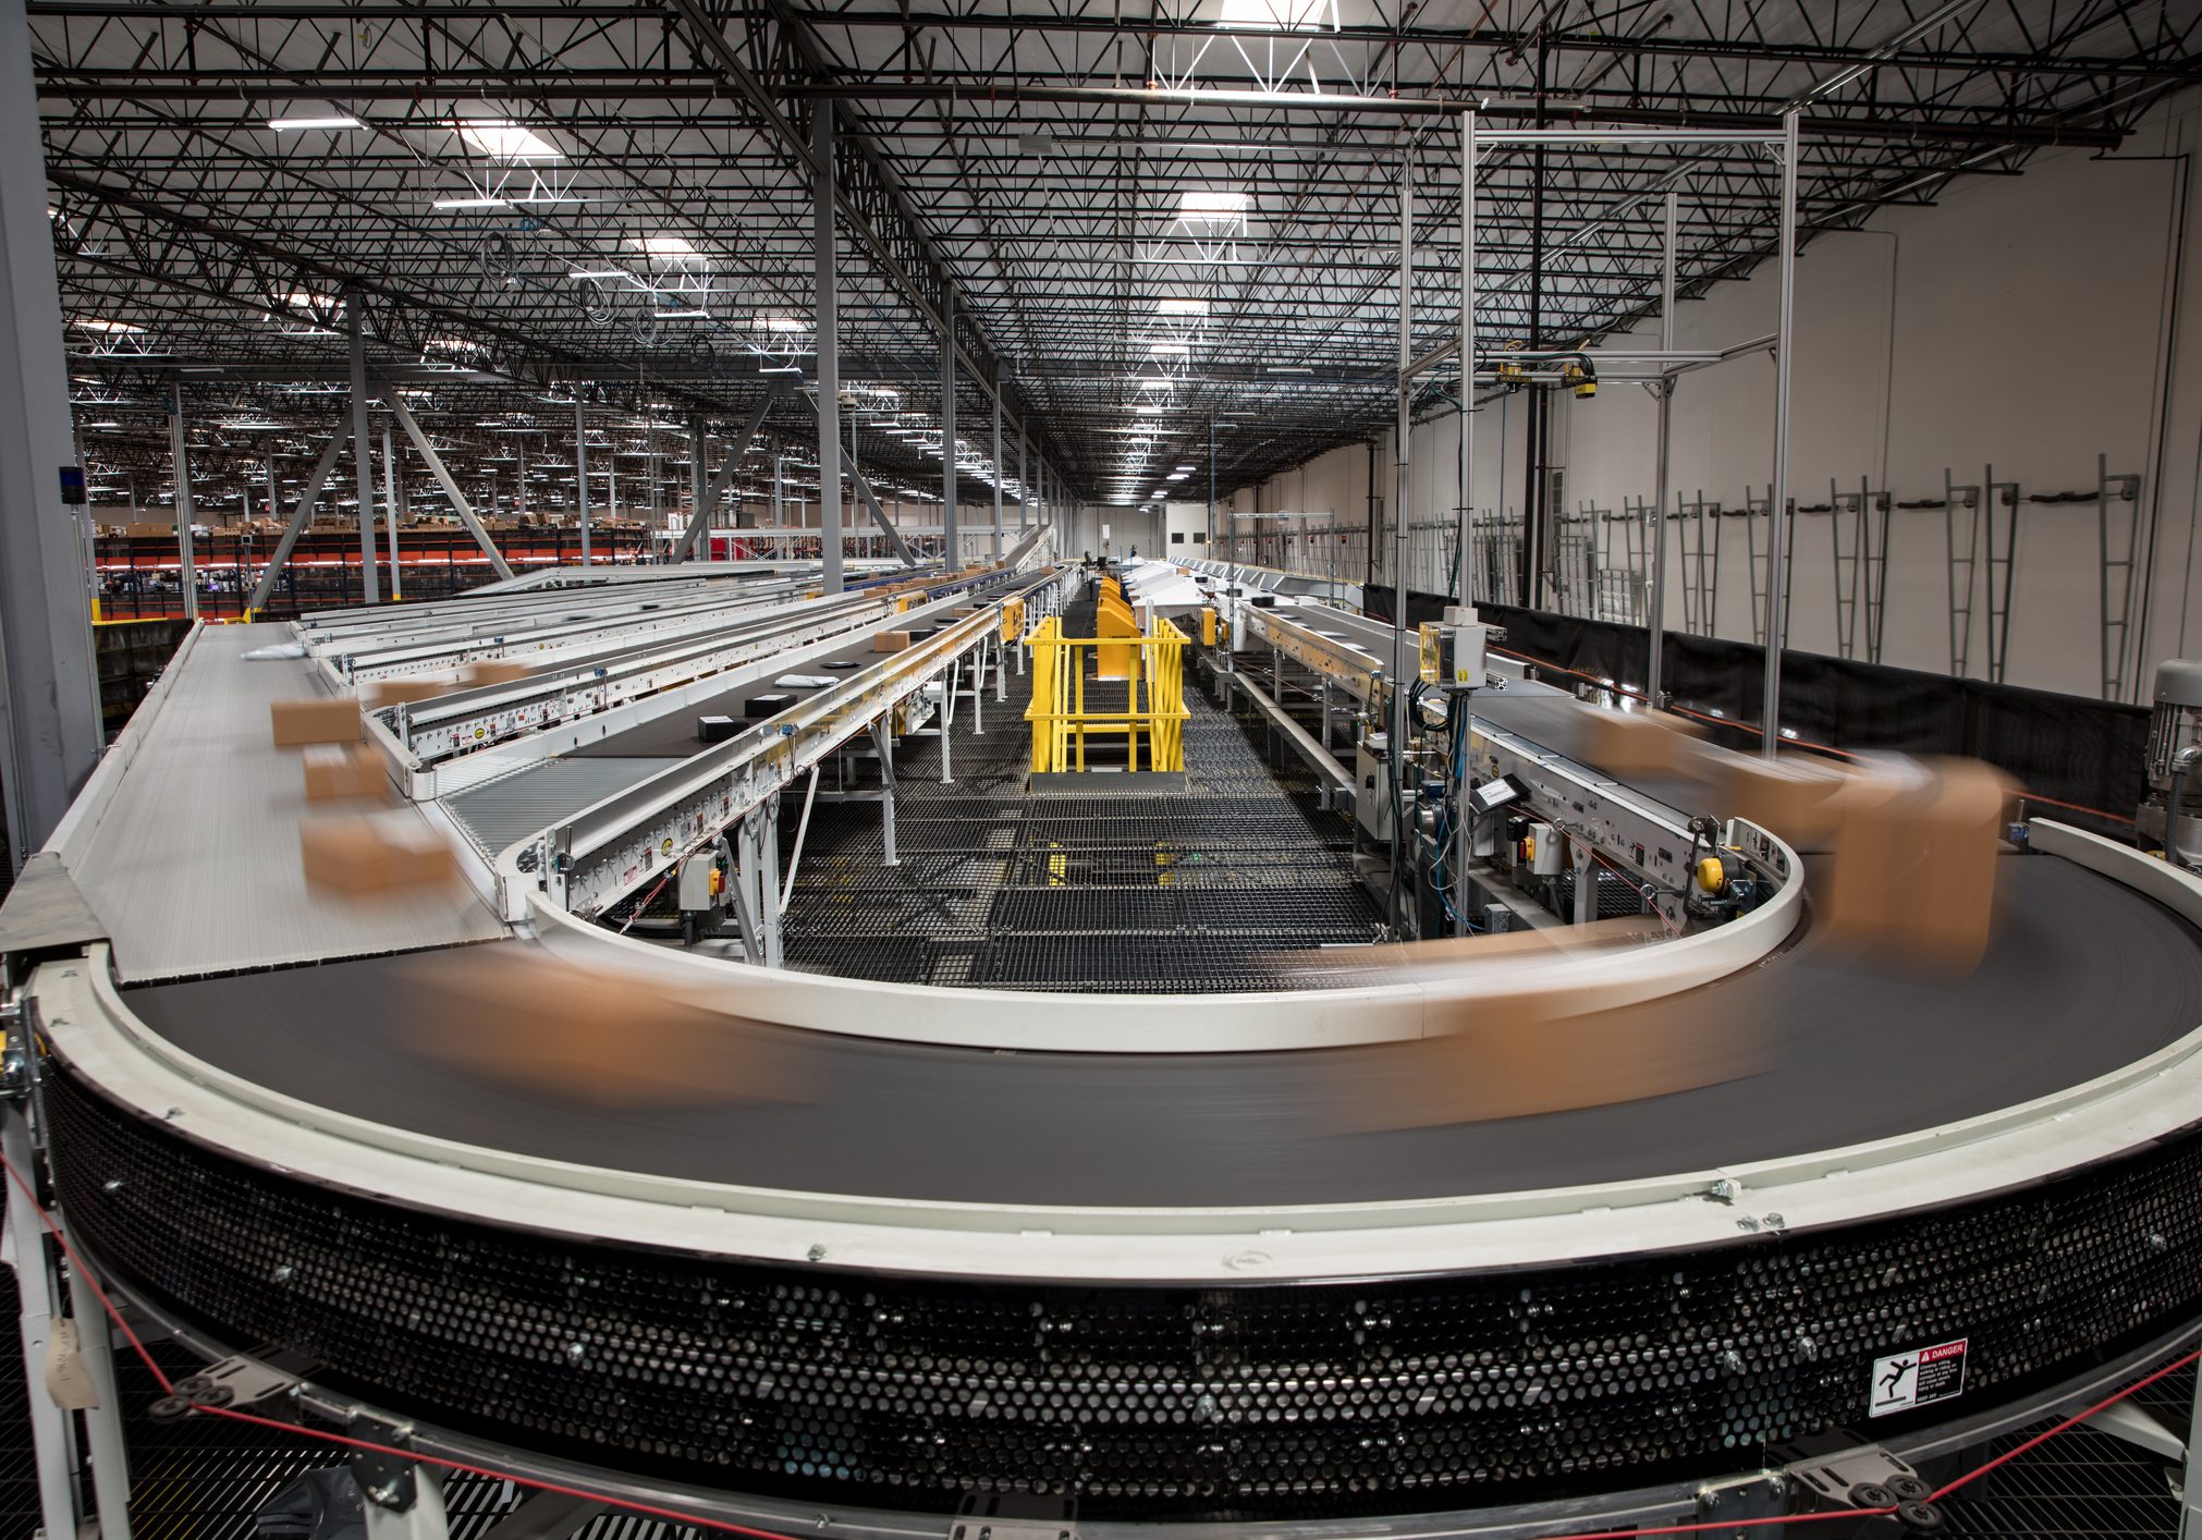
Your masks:
[[[1284,954],[1359,947],[1378,910],[1352,875],[1352,828],[1297,764],[1268,767],[1246,725],[1187,690],[1187,791],[1026,795],[1031,679],[958,701],[940,740],[896,751],[896,866],[879,806],[819,802],[784,936],[791,967],[995,989],[1176,991],[1352,985]],[[1094,771],[1108,776],[1110,771]],[[828,787],[830,787],[828,771]],[[876,787],[859,767],[852,787]],[[795,800],[782,839],[795,839]]]

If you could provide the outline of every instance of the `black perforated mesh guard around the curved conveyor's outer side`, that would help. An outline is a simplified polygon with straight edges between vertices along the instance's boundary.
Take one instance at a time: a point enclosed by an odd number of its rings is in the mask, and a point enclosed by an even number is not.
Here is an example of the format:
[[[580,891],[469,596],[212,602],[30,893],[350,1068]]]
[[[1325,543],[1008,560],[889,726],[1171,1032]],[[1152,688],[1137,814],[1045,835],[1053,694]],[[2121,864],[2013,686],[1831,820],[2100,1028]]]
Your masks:
[[[48,1084],[59,1196],[130,1287],[388,1410],[647,1476],[1086,1516],[1429,1511],[1757,1467],[1966,1342],[2015,1403],[2202,1306],[2202,1141],[1819,1234],[1246,1287],[958,1282],[630,1249],[251,1170]],[[546,1205],[557,1196],[546,1194]]]

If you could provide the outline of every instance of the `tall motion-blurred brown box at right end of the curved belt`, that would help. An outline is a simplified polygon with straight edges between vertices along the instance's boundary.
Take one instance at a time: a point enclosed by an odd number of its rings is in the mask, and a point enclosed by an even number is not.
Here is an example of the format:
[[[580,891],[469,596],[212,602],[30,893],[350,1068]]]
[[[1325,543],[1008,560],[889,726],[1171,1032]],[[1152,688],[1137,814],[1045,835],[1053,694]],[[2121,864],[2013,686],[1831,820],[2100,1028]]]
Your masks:
[[[1977,967],[2010,795],[2010,782],[1977,760],[1856,778],[1836,800],[1834,870],[1819,905],[1830,941],[1909,967]]]

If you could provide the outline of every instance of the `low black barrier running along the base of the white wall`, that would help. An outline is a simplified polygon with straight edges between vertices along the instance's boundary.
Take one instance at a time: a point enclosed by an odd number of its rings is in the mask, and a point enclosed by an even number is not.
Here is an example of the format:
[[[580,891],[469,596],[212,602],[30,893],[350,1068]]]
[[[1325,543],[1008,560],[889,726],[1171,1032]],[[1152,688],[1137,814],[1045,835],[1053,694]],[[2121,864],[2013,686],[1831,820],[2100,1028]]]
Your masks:
[[[1392,615],[1392,593],[1370,588],[1372,615]],[[1438,619],[1447,599],[1407,595],[1409,621]],[[1480,604],[1478,612],[1506,628],[1511,652],[1614,679],[1643,690],[1647,630],[1588,621],[1511,604]],[[1555,679],[1552,683],[1568,683]],[[1764,703],[1766,650],[1748,641],[1667,632],[1663,687],[1676,705],[1757,723]],[[1781,654],[1781,725],[1799,738],[1836,749],[1892,749],[1900,753],[1964,753],[1986,760],[2039,798],[2072,804],[2039,809],[2057,817],[2123,833],[2145,789],[2149,712],[2050,690],[1949,679],[1885,663]],[[1759,738],[1718,729],[1729,747],[1755,749]],[[2112,817],[2087,817],[2092,809]]]

